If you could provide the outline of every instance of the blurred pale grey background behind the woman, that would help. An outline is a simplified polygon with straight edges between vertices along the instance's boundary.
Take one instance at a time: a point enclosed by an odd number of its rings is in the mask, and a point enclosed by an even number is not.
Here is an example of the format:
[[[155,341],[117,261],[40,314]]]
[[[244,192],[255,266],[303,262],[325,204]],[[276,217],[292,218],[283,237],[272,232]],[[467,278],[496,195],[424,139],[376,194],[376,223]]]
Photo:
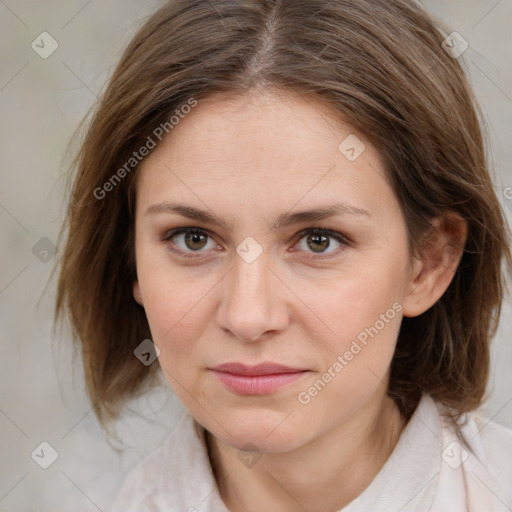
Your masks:
[[[109,444],[68,334],[52,332],[65,173],[81,118],[130,37],[162,1],[0,0],[0,511],[107,511],[129,469],[183,408],[169,387],[134,402]],[[512,222],[512,0],[423,5],[469,47],[463,60],[489,130],[498,196]],[[511,187],[511,188],[508,188]],[[44,293],[43,293],[44,292]],[[512,314],[504,306],[482,412],[512,426]],[[48,443],[48,444],[41,444]],[[44,466],[48,466],[44,469]]]

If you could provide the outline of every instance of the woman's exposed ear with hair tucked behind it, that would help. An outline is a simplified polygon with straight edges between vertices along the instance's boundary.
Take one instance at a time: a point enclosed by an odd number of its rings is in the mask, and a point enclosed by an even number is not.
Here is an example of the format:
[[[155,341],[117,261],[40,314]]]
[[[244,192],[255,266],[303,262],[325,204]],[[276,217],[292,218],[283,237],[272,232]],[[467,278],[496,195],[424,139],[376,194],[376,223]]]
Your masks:
[[[452,282],[464,253],[468,225],[459,214],[446,211],[432,221],[419,258],[414,259],[403,315],[415,317],[432,307]]]

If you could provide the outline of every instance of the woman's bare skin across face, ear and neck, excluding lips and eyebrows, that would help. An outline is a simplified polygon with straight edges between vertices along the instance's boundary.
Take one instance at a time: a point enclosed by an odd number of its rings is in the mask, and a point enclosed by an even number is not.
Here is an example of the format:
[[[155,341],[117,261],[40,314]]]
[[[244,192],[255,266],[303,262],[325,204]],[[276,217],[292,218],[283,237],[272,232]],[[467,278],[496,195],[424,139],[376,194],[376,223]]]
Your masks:
[[[366,145],[355,161],[338,150],[350,134]],[[165,201],[207,210],[228,226],[147,213]],[[369,215],[270,230],[281,213],[335,202]],[[441,297],[461,257],[447,244],[463,247],[467,235],[454,214],[434,224],[424,258],[412,258],[376,150],[322,103],[291,92],[200,101],[142,162],[134,297],[169,384],[209,432],[229,510],[338,510],[384,465],[405,425],[386,395],[402,316],[419,315]],[[179,227],[197,227],[203,238],[163,240]],[[314,235],[299,234],[310,228],[330,229],[348,243],[329,237],[315,250]],[[249,236],[262,249],[252,263],[236,252]],[[401,312],[300,403],[298,394],[393,304]],[[228,361],[309,372],[268,395],[240,396],[208,369]],[[252,466],[237,457],[247,443],[261,456]]]

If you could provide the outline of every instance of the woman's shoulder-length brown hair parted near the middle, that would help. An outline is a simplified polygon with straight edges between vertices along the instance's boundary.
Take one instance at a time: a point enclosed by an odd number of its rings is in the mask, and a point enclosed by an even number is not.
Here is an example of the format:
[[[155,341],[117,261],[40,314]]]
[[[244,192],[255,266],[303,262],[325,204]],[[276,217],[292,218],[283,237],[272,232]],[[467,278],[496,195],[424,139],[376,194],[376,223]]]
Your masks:
[[[145,21],[73,162],[60,234],[67,230],[55,321],[69,314],[104,426],[160,382],[159,366],[134,356],[151,333],[132,295],[136,165],[126,162],[191,98],[260,87],[312,95],[365,134],[401,204],[411,254],[435,216],[450,209],[467,220],[448,290],[403,319],[389,394],[406,417],[422,392],[456,416],[482,402],[506,290],[501,264],[512,265],[510,232],[487,168],[481,112],[461,63],[441,44],[447,33],[409,0],[172,0]]]

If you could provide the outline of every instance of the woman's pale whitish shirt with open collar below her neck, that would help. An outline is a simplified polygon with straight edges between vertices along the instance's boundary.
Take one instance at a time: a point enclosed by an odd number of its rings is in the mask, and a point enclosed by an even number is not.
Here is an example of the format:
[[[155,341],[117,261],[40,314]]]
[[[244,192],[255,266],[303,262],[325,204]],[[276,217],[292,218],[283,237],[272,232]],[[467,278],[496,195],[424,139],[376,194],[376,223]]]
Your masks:
[[[511,512],[512,429],[468,415],[468,449],[444,412],[423,395],[384,466],[342,512]],[[204,429],[187,411],[128,473],[111,512],[229,512]]]

